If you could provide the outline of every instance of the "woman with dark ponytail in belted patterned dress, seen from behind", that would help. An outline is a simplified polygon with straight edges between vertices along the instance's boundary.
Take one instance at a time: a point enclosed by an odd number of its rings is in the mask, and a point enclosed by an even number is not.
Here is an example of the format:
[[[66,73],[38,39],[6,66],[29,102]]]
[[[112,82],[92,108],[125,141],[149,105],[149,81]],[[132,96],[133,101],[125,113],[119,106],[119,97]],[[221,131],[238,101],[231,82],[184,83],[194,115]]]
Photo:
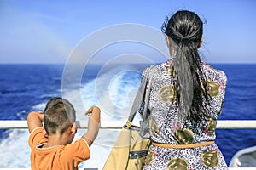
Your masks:
[[[228,169],[214,144],[227,78],[200,59],[203,23],[193,12],[177,11],[162,31],[171,59],[143,71],[153,74],[148,103],[153,143],[143,169]]]

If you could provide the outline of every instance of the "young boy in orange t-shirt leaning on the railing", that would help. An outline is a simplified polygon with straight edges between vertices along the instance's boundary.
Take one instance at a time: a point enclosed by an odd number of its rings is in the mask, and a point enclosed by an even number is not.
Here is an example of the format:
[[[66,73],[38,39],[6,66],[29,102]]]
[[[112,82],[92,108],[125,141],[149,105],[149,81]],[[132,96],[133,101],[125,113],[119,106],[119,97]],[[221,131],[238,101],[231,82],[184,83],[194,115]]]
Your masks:
[[[47,103],[44,114],[31,112],[27,116],[30,132],[31,167],[37,169],[78,169],[81,161],[90,158],[90,145],[96,139],[101,110],[91,107],[88,130],[73,144],[77,132],[75,110],[67,99],[53,98]],[[44,127],[42,125],[44,122]]]

